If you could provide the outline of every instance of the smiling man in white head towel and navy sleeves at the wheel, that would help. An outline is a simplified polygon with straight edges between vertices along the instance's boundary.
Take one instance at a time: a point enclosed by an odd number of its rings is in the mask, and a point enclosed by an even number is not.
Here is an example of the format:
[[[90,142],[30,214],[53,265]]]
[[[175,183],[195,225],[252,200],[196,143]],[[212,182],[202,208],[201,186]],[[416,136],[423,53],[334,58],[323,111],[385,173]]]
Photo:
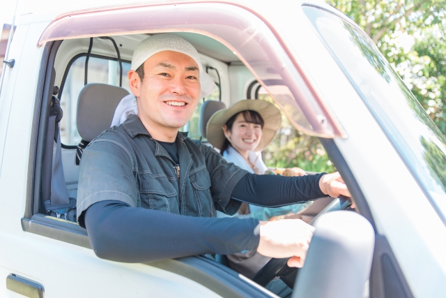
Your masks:
[[[339,174],[255,175],[179,129],[215,84],[197,50],[170,34],[134,51],[128,73],[138,115],[90,142],[82,157],[79,225],[100,258],[148,262],[257,250],[302,267],[314,228],[300,220],[215,218],[242,202],[269,207],[347,195]]]

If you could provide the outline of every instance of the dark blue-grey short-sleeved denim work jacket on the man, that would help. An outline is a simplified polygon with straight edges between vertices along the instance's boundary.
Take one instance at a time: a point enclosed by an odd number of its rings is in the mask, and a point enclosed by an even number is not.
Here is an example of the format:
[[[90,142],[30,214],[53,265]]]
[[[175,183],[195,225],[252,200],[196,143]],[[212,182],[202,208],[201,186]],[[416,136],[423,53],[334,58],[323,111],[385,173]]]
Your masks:
[[[179,167],[134,115],[101,133],[82,155],[78,218],[105,200],[187,216],[234,214],[241,202],[231,193],[247,171],[185,133],[176,145]]]

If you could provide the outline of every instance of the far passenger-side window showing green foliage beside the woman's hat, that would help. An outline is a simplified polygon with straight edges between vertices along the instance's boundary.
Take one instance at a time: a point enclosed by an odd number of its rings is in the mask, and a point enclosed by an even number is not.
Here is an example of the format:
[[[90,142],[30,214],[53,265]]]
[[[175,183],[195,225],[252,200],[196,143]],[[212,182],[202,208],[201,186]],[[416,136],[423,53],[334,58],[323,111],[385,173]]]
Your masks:
[[[257,98],[275,104],[263,87],[259,89]],[[268,167],[300,167],[308,172],[335,171],[319,139],[295,129],[283,113],[282,127],[264,153]]]

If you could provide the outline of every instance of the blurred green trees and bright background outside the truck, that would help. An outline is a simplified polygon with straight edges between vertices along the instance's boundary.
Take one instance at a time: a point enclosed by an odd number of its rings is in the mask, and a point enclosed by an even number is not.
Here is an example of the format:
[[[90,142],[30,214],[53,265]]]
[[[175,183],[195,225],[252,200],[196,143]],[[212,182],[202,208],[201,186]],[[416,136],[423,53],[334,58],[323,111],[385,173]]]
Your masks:
[[[446,0],[326,2],[364,29],[440,131],[446,134]],[[1,60],[16,3],[17,0],[0,0]],[[218,94],[211,97],[217,99]],[[259,98],[272,101],[263,88]],[[198,113],[194,117],[197,119],[191,119],[191,126],[198,124]],[[199,137],[192,133],[198,129],[187,127],[186,130],[191,132],[190,137]],[[282,129],[264,153],[269,167],[301,167],[312,172],[335,170],[318,139],[296,131],[286,117],[283,117]]]

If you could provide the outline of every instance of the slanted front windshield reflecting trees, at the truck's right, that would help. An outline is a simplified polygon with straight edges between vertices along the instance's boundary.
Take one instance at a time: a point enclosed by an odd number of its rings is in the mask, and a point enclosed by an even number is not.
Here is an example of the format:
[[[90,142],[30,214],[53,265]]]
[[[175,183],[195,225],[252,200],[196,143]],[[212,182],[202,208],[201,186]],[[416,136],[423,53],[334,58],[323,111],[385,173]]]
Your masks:
[[[362,30],[326,10],[303,9],[445,222],[444,135]]]

